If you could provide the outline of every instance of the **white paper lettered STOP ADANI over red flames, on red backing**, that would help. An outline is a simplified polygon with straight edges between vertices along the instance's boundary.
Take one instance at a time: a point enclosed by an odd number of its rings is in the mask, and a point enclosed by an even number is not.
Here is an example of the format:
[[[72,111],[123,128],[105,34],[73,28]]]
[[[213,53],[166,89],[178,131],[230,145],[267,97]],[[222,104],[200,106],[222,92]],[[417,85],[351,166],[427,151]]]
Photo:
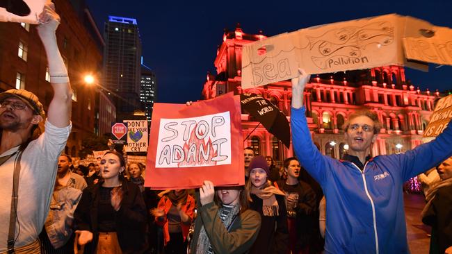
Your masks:
[[[184,119],[161,119],[156,168],[231,164],[229,112]]]

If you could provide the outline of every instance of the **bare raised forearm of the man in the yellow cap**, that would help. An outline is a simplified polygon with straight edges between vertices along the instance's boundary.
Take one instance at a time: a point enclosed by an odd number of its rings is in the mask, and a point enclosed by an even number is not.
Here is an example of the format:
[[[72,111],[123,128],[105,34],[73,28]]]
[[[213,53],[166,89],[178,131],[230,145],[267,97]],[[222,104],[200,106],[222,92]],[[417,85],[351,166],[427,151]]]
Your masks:
[[[54,89],[47,112],[47,120],[58,128],[69,125],[72,106],[72,89],[67,76],[67,69],[58,50],[56,28],[60,24],[60,16],[55,12],[54,3],[46,3],[39,17],[38,34],[47,54],[50,83]]]

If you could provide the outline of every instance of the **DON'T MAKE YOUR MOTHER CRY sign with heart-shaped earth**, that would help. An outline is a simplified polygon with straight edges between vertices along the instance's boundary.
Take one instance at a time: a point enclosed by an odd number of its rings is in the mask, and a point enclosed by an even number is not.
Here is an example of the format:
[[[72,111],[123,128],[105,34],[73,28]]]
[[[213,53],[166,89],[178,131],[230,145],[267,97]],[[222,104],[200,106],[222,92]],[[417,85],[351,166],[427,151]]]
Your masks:
[[[127,125],[126,152],[147,151],[147,120],[124,120]]]

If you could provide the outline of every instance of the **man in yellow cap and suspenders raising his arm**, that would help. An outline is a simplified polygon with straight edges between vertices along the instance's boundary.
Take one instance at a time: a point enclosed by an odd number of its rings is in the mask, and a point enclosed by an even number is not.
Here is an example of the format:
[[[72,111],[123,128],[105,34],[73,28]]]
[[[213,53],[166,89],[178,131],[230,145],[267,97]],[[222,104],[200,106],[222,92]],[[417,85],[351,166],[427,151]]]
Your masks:
[[[0,253],[40,253],[38,235],[49,212],[58,155],[72,127],[72,89],[56,43],[60,17],[53,3],[45,5],[38,21],[54,96],[45,121],[44,107],[32,92],[0,94]]]

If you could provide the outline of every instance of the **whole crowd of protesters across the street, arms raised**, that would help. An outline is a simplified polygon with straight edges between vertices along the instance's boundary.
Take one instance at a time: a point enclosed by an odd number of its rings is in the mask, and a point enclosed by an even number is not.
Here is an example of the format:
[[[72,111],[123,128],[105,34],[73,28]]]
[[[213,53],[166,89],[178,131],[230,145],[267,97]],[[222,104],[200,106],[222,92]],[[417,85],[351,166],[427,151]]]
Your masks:
[[[292,79],[296,157],[279,169],[245,148],[244,186],[205,179],[199,189],[154,191],[145,166],[114,150],[74,168],[61,154],[72,90],[58,23],[47,3],[38,26],[54,89],[47,119],[35,94],[0,94],[0,253],[410,253],[402,188],[419,174],[430,253],[452,253],[452,127],[406,153],[372,158],[381,124],[375,112],[357,111],[344,123],[348,153],[334,160],[312,142],[301,69]]]

